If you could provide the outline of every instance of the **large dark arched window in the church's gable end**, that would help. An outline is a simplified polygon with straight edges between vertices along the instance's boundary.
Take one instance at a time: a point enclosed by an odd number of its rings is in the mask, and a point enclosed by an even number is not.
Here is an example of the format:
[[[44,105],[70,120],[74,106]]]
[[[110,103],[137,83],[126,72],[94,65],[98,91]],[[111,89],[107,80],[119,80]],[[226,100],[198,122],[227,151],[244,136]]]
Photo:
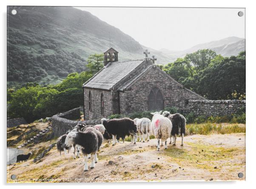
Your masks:
[[[159,88],[154,87],[151,89],[148,96],[148,110],[163,110],[164,100],[163,95]]]

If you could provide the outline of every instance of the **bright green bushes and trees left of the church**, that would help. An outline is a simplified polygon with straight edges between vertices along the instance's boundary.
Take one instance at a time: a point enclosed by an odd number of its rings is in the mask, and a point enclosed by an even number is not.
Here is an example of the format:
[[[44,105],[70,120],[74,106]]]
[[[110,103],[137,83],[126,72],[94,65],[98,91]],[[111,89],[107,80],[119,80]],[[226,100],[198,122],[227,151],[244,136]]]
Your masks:
[[[82,84],[91,73],[71,73],[62,83],[46,87],[27,83],[17,90],[9,90],[8,116],[23,117],[27,122],[53,116],[82,105]]]

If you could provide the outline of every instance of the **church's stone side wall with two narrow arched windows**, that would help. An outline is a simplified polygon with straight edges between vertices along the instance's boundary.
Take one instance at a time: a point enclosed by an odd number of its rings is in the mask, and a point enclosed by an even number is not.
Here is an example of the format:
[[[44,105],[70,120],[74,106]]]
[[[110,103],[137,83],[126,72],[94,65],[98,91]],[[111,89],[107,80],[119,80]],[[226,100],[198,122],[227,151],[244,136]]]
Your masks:
[[[91,91],[91,110],[89,110],[89,91]],[[104,100],[104,115],[101,114],[101,94]],[[111,91],[84,88],[85,120],[100,119],[112,114]]]

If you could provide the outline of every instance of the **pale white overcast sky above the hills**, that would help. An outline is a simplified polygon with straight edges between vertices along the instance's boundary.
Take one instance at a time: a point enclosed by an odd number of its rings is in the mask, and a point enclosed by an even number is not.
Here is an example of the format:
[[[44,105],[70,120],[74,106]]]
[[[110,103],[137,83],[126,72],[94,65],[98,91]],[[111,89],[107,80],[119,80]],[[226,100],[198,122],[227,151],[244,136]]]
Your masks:
[[[245,38],[244,8],[76,7],[119,28],[141,45],[182,51],[226,37]]]

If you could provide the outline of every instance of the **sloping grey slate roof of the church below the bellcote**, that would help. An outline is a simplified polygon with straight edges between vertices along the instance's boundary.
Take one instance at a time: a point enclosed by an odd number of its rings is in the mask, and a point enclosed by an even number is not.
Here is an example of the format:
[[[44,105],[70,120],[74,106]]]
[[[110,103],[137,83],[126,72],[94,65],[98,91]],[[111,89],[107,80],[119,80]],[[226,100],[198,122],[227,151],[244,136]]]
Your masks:
[[[83,87],[110,90],[114,85],[121,81],[125,76],[134,71],[143,60],[132,60],[125,62],[111,62],[91,79],[85,82]]]

